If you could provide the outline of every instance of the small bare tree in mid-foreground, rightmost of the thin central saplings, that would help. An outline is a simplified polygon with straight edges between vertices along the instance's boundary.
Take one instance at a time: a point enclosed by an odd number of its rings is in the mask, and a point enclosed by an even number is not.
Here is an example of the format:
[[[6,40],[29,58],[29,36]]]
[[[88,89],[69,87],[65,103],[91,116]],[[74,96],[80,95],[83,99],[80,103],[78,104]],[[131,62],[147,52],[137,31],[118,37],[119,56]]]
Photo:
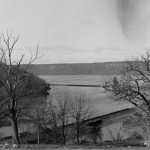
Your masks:
[[[77,144],[80,144],[81,131],[83,130],[85,124],[84,120],[92,117],[94,113],[94,107],[91,101],[82,93],[74,93],[72,95],[72,107],[71,107],[71,117],[74,120],[74,126],[76,130]]]

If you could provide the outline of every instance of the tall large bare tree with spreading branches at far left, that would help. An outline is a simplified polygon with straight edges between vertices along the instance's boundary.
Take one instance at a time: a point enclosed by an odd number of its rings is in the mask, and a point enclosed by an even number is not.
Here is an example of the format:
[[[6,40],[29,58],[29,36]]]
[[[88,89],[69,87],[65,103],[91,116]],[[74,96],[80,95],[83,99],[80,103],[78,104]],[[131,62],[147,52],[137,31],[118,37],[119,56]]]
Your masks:
[[[14,143],[17,144],[18,117],[22,110],[28,108],[23,106],[23,101],[34,96],[46,96],[49,90],[48,84],[27,72],[28,67],[38,58],[38,46],[35,57],[31,56],[29,63],[23,68],[21,64],[24,55],[18,61],[13,60],[14,47],[18,39],[19,37],[14,38],[12,33],[0,36],[0,114],[10,119]]]

